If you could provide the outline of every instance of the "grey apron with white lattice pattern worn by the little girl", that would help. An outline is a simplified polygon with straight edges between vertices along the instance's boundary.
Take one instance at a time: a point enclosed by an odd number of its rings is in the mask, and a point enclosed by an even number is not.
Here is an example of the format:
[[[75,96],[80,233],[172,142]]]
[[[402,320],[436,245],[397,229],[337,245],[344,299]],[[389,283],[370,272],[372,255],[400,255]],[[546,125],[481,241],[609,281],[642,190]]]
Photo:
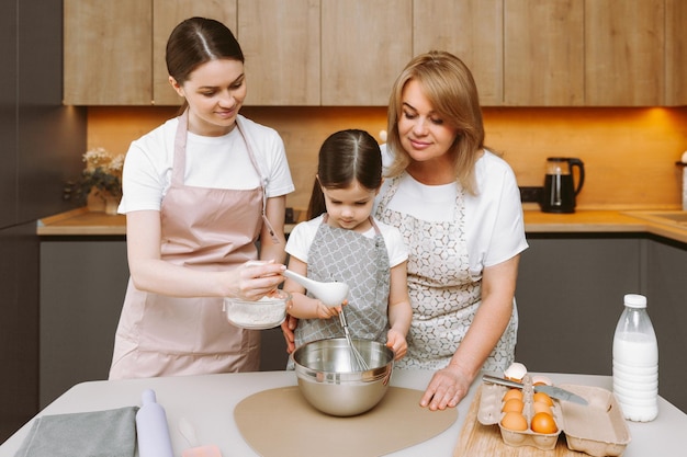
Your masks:
[[[351,336],[385,343],[391,269],[384,237],[374,220],[370,218],[370,221],[375,230],[373,238],[330,227],[325,216],[308,250],[307,277],[348,284],[350,292],[345,308]],[[295,343],[299,346],[340,336],[344,330],[338,318],[301,319]]]

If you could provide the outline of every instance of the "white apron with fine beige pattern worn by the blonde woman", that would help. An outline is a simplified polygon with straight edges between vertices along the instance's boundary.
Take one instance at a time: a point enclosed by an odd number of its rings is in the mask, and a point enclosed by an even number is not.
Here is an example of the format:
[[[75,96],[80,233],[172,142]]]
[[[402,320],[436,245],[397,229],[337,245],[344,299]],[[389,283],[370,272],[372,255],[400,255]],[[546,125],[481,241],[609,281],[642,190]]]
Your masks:
[[[398,368],[446,367],[480,307],[482,279],[470,274],[465,237],[464,191],[458,185],[453,220],[426,221],[388,208],[401,180],[392,179],[375,217],[401,230],[408,247],[408,295],[413,321],[407,355]],[[518,325],[515,309],[506,331],[482,369],[503,373],[513,363]]]

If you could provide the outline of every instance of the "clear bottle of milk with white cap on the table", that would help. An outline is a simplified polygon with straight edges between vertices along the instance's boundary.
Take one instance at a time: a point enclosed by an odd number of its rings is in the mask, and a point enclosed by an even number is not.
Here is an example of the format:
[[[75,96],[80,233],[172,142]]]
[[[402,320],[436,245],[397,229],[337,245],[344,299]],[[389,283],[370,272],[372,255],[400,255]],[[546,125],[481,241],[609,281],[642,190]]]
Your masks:
[[[613,393],[630,421],[658,414],[658,345],[643,295],[624,296],[613,336]]]

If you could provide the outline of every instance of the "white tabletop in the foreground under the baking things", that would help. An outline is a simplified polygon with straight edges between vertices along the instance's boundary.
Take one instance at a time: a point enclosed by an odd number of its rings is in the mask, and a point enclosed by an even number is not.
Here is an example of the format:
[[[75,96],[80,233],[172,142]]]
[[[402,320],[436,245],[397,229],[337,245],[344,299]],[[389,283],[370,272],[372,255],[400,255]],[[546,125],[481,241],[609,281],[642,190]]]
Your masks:
[[[395,370],[392,386],[423,390],[432,372]],[[578,384],[611,388],[609,376],[547,374],[554,384]],[[151,388],[167,411],[174,454],[188,447],[177,424],[187,418],[196,429],[202,444],[216,444],[224,457],[256,456],[244,441],[234,422],[234,407],[244,398],[261,390],[295,386],[293,372],[262,372],[151,379],[127,379],[79,384],[45,408],[38,415],[98,411],[126,405],[139,405],[140,393]],[[451,456],[460,430],[474,397],[476,381],[469,396],[459,404],[458,421],[432,439],[394,453],[396,457]],[[419,400],[419,399],[418,399]],[[0,446],[0,457],[13,457],[29,433],[33,420]],[[623,457],[684,455],[687,414],[664,399],[658,402],[658,418],[649,423],[629,422],[631,443]]]

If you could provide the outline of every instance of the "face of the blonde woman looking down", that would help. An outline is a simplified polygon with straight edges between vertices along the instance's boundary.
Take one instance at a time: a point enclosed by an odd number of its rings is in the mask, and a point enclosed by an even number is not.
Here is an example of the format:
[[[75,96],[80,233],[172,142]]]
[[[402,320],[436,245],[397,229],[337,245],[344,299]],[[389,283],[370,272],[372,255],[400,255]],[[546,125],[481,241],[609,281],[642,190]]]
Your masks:
[[[439,162],[451,168],[446,152],[455,140],[457,129],[435,111],[416,80],[409,80],[403,89],[398,135],[403,149],[417,162],[412,167]]]

